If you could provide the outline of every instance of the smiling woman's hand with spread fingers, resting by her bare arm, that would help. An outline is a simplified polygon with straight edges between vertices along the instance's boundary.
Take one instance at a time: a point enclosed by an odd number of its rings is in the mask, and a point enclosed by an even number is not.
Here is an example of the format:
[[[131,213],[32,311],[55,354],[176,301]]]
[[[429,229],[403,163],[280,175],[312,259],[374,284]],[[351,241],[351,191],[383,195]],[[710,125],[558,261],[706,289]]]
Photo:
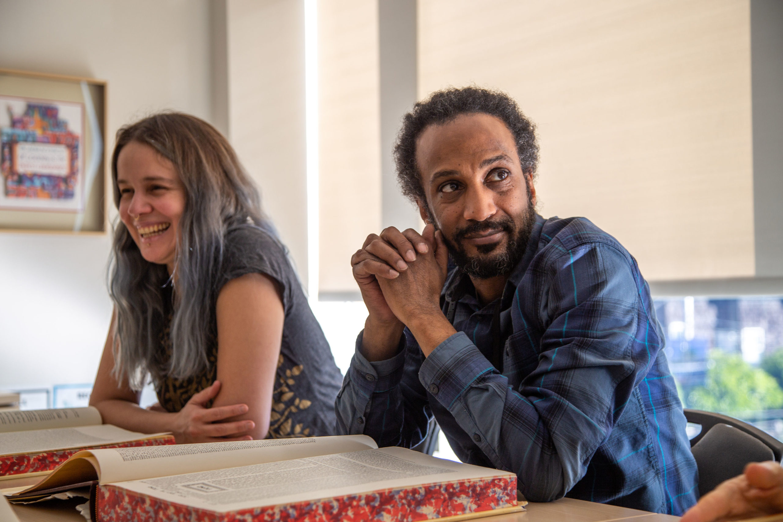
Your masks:
[[[252,430],[255,423],[252,420],[237,420],[230,423],[221,423],[222,419],[242,415],[247,412],[247,405],[234,404],[229,406],[217,406],[206,408],[204,404],[211,401],[220,391],[220,381],[216,380],[208,387],[193,395],[184,408],[175,413],[174,437],[177,444],[190,444],[193,442],[218,442],[218,441],[251,441],[253,437],[244,435],[232,437]]]

